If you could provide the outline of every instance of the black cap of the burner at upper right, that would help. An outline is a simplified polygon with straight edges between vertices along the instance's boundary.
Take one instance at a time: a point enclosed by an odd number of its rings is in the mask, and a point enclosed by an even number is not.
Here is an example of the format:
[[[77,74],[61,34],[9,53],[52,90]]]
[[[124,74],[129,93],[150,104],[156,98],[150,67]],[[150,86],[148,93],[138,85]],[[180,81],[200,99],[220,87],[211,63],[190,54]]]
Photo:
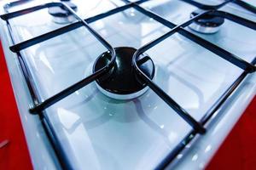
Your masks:
[[[201,14],[203,12],[204,10],[197,9],[190,14],[190,18],[195,17],[196,15]],[[218,27],[224,23],[224,18],[212,14],[206,14],[200,17],[198,20],[195,20],[195,23],[205,27]]]

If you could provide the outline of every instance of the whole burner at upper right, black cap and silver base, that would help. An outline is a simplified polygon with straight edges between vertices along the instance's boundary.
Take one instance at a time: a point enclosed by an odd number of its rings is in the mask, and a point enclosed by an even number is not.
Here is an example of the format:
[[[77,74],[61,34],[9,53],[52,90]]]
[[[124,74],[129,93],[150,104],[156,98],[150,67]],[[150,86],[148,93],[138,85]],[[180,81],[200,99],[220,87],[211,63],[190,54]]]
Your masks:
[[[190,14],[190,18],[195,17],[197,14],[204,12],[202,9],[197,9]],[[195,20],[189,25],[189,28],[193,31],[197,31],[204,34],[212,34],[219,30],[220,26],[224,24],[224,18],[214,16],[212,14],[206,14],[200,19]]]

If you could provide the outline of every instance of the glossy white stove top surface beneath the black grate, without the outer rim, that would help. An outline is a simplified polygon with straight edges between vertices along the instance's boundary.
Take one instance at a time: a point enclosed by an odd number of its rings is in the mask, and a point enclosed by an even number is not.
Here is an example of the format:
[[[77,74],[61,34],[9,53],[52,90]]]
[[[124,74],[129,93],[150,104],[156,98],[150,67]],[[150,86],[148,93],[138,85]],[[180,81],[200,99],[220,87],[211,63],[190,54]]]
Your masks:
[[[113,48],[141,49],[189,20],[190,14],[198,9],[177,0],[145,1],[129,7],[130,3],[119,0],[86,1],[86,5],[82,0],[72,2],[77,5],[79,16],[89,18],[86,20],[89,26]],[[45,1],[28,2],[10,8],[9,12],[42,3]],[[207,3],[217,5],[223,1]],[[92,17],[122,6],[127,7],[100,20]],[[143,10],[152,11],[172,26],[162,24]],[[255,24],[256,15],[236,4],[226,4],[218,10],[253,20]],[[47,8],[20,15],[9,20],[9,24],[17,43],[70,25],[56,23]],[[154,84],[196,122],[201,122],[243,69],[186,37],[188,32],[251,63],[256,54],[256,31],[224,19],[215,33],[203,34],[184,26],[145,50],[154,62]],[[38,99],[44,102],[89,77],[96,59],[107,51],[88,29],[80,26],[22,49],[20,55]],[[125,78],[123,81],[129,83]],[[193,130],[152,87],[136,98],[113,99],[97,86],[91,82],[44,110],[44,119],[74,169],[153,169]]]

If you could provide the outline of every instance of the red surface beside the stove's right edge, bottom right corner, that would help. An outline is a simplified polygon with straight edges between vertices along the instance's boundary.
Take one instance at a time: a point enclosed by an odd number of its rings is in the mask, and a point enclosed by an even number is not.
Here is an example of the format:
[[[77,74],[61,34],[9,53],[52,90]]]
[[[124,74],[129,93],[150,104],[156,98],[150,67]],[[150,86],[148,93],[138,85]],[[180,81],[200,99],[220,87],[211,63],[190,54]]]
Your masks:
[[[207,167],[217,169],[256,169],[256,97]]]

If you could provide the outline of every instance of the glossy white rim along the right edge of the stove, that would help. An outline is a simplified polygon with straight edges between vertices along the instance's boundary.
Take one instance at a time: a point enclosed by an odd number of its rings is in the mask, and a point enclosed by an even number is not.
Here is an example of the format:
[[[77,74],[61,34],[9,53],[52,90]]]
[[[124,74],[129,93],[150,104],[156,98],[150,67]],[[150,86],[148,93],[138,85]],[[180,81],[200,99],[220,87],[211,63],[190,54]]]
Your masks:
[[[167,169],[204,169],[212,156],[217,152],[224,139],[235,126],[246,105],[256,95],[256,74],[249,75],[241,83],[236,93],[228,99],[225,105],[212,116],[212,122],[207,123],[207,133],[189,144]]]

